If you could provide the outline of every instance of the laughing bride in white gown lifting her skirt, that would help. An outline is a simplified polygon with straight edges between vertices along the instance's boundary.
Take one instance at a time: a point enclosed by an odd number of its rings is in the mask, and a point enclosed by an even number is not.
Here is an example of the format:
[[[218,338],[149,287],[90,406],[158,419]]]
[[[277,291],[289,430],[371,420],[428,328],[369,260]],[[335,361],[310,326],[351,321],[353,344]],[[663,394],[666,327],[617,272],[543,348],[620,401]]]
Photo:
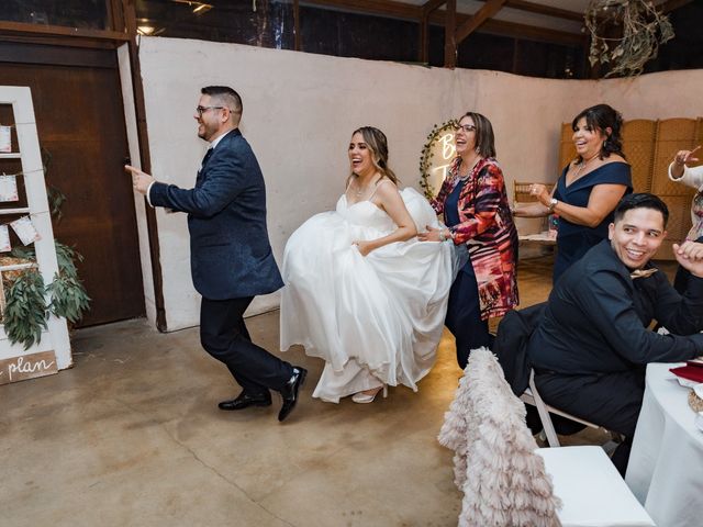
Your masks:
[[[353,173],[336,210],[286,245],[281,350],[301,344],[325,360],[314,397],[370,403],[387,385],[416,391],[433,367],[453,253],[415,237],[437,216],[414,189],[399,192],[380,130],[355,131],[348,155]]]

